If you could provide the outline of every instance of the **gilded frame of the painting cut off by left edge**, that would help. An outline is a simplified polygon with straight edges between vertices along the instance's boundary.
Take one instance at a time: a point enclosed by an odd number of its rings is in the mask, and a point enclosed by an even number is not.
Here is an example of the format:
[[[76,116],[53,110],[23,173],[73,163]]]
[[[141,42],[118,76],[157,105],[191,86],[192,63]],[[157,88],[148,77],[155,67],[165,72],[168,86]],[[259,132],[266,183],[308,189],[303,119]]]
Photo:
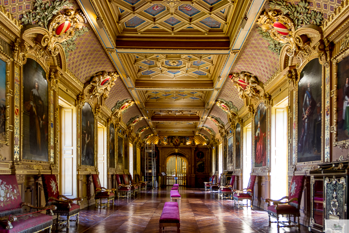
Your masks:
[[[0,51],[0,143],[9,146],[10,58]]]

